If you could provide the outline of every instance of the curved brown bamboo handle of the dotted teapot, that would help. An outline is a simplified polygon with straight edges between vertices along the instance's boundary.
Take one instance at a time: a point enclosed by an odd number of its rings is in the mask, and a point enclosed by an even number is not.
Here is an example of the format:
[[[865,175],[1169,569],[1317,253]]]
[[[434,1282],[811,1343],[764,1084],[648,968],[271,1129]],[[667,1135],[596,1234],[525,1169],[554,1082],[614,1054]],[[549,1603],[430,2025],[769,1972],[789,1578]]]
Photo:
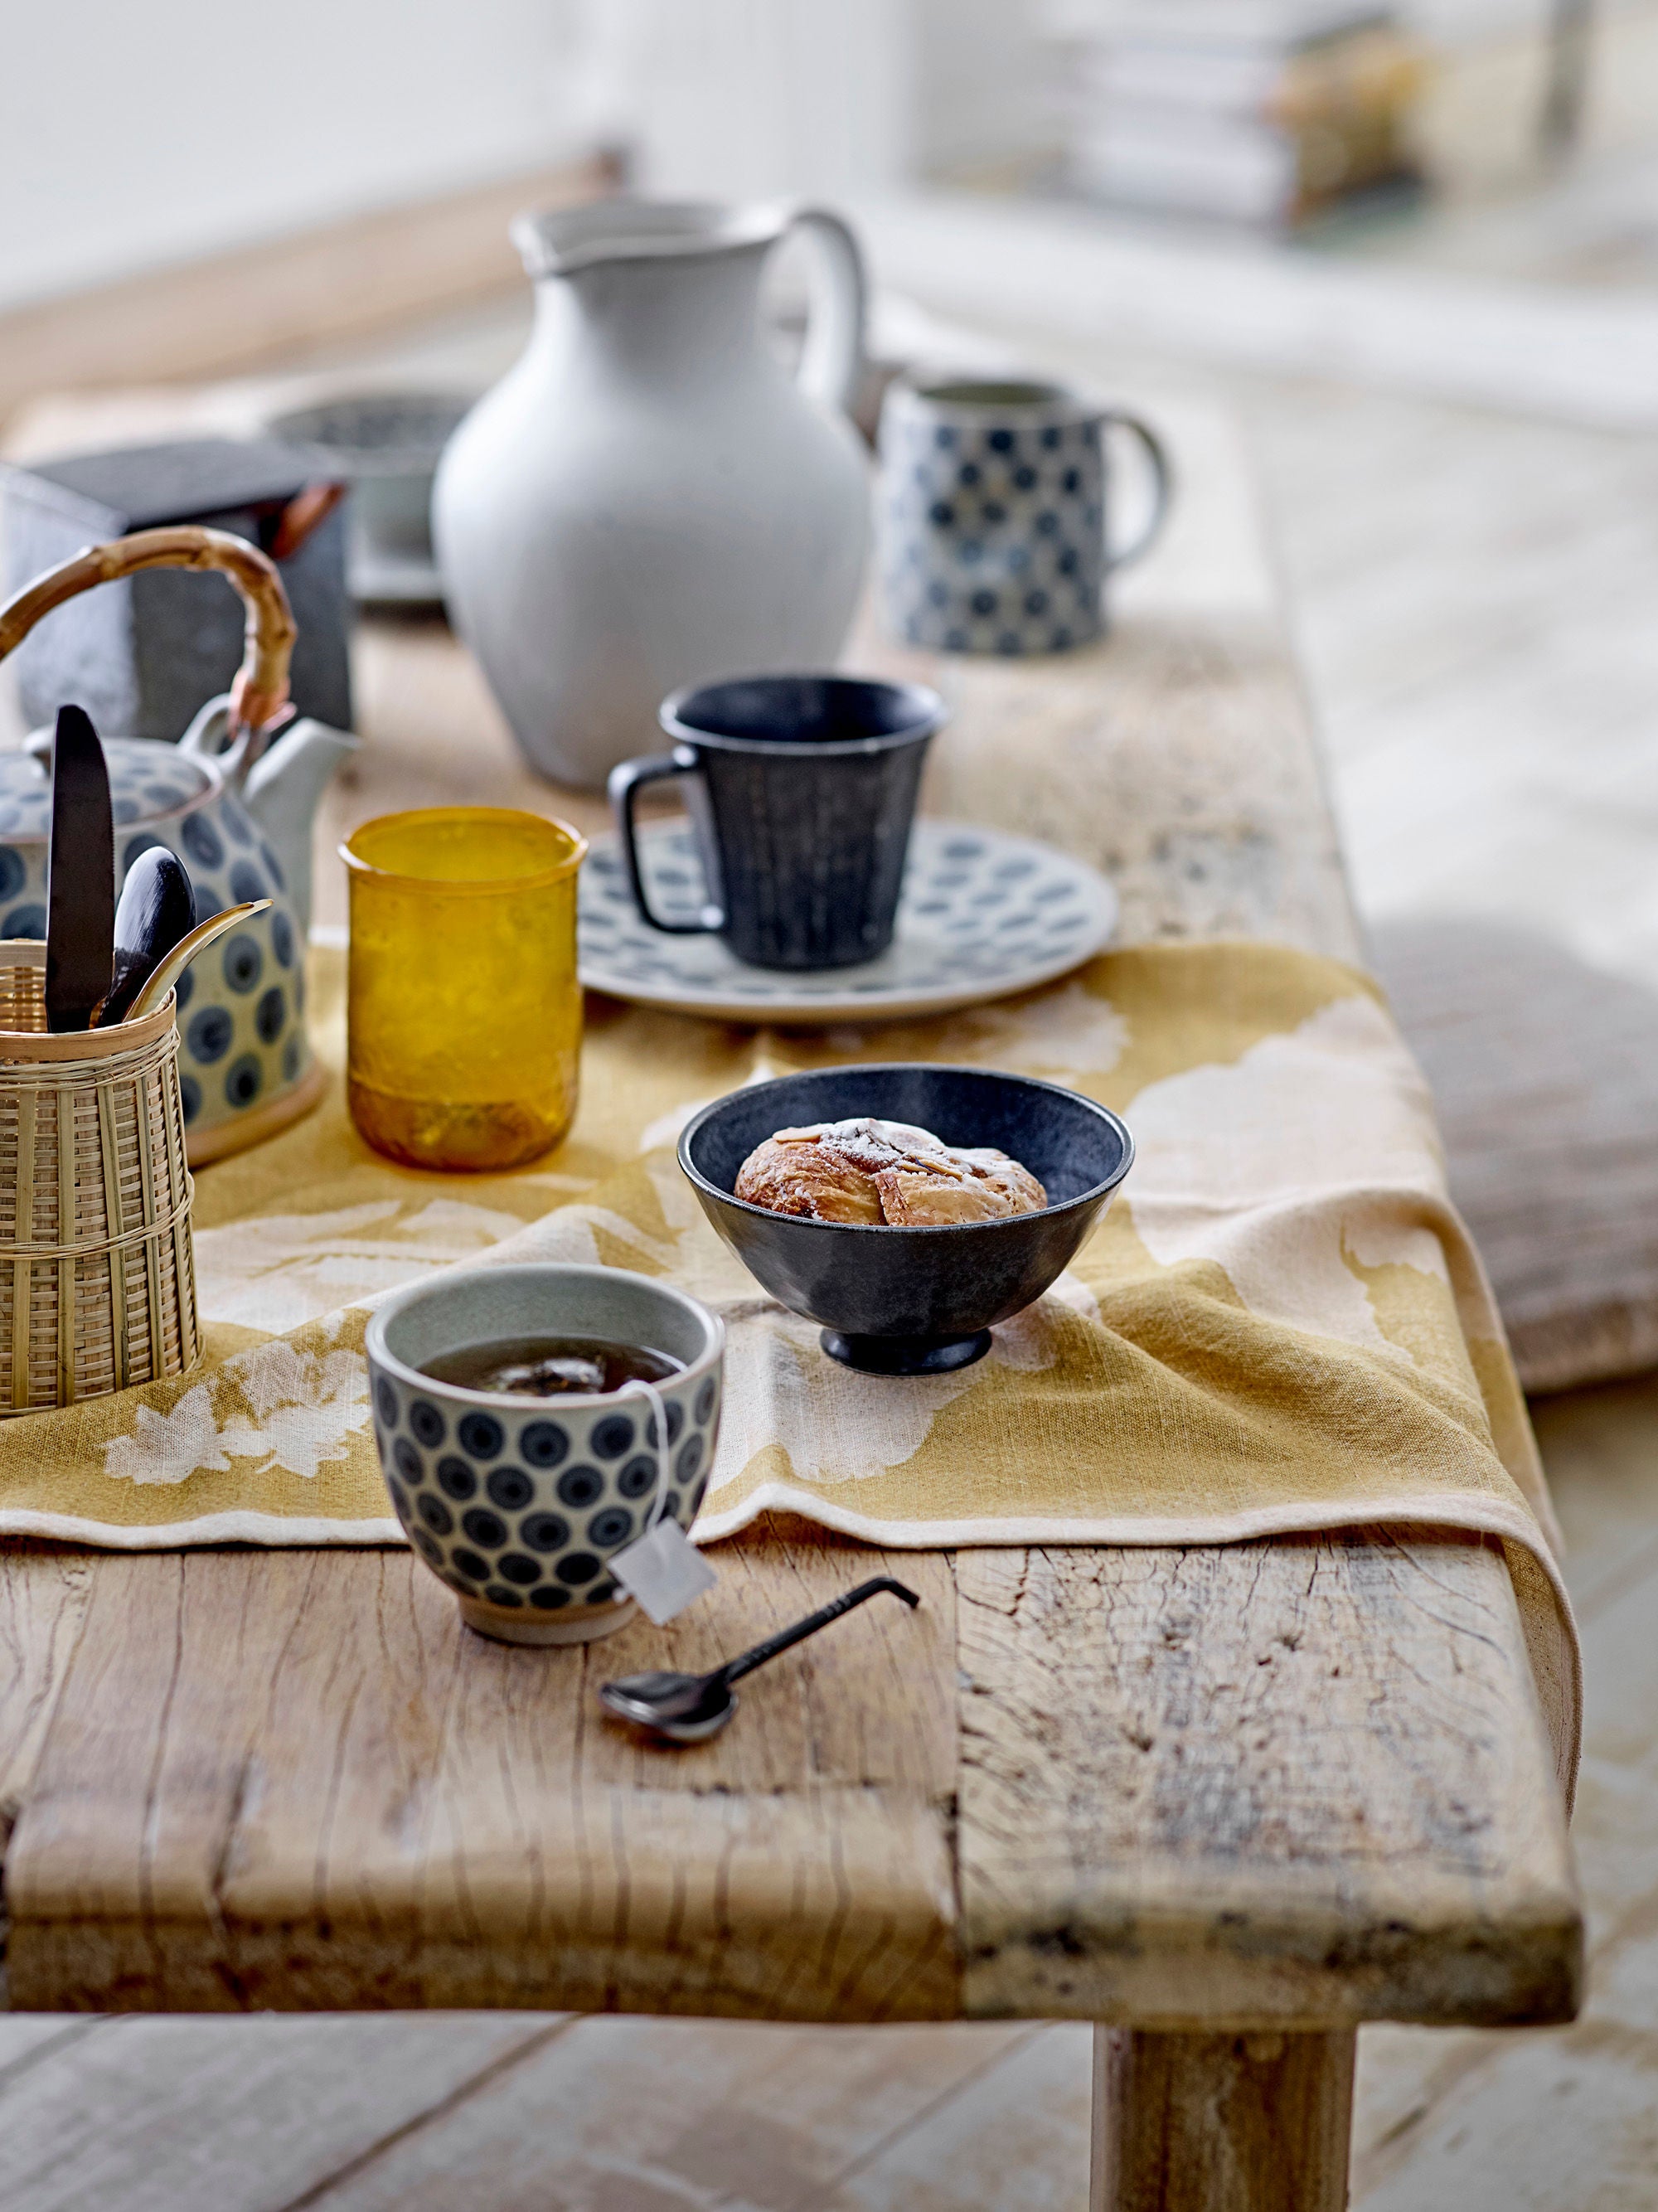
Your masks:
[[[298,635],[287,593],[276,564],[259,546],[232,538],[230,531],[201,529],[199,522],[113,538],[46,568],[0,606],[0,661],[53,606],[139,568],[217,568],[230,577],[248,608],[241,668],[230,686],[230,721],[234,730],[263,730],[287,703],[287,661]]]

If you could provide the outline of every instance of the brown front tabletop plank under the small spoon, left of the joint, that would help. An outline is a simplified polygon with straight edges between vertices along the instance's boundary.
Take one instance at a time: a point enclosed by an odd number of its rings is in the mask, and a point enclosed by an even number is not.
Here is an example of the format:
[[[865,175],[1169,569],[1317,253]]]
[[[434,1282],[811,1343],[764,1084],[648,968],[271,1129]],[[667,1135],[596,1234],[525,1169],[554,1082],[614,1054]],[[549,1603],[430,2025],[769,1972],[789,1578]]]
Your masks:
[[[97,1564],[9,1858],[11,2002],[948,2017],[955,1608],[776,1663],[743,1725],[648,1750],[595,1681],[707,1668],[871,1553],[734,1544],[663,1639],[522,1652],[420,1562]]]

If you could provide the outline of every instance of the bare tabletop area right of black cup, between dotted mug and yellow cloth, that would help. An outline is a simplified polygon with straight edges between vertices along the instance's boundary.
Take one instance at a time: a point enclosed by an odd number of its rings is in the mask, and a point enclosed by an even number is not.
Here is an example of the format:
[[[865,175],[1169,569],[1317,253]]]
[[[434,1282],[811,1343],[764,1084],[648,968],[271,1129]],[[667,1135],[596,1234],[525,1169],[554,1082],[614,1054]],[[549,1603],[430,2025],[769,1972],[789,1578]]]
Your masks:
[[[1238,429],[1158,392],[1119,398],[1172,449],[1165,535],[1112,580],[1099,646],[935,670],[953,721],[926,801],[1103,867],[1127,942],[1251,936],[1360,958]]]

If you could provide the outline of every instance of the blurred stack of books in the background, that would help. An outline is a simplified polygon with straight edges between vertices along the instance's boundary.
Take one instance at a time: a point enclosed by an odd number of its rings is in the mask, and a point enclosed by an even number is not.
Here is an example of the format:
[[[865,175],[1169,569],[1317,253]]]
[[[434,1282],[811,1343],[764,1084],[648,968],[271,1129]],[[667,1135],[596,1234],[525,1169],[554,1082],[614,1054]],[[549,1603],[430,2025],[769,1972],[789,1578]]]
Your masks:
[[[1419,49],[1364,0],[1046,0],[1090,199],[1284,228],[1415,181]]]

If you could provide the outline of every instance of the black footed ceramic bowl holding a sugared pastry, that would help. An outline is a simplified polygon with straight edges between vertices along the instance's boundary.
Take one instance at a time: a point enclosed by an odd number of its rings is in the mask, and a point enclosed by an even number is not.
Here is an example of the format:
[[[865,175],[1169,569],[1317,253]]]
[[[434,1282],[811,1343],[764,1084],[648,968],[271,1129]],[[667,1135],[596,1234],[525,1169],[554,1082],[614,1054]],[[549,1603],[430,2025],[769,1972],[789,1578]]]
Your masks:
[[[937,1230],[862,1228],[774,1214],[732,1197],[743,1161],[780,1128],[913,1121],[944,1144],[993,1144],[1048,1192],[1039,1214]],[[990,1327],[1039,1298],[1074,1259],[1130,1170],[1114,1113],[1028,1075],[893,1064],[820,1068],[732,1091],[679,1139],[703,1212],[743,1265],[822,1349],[869,1374],[948,1374],[990,1349]]]

